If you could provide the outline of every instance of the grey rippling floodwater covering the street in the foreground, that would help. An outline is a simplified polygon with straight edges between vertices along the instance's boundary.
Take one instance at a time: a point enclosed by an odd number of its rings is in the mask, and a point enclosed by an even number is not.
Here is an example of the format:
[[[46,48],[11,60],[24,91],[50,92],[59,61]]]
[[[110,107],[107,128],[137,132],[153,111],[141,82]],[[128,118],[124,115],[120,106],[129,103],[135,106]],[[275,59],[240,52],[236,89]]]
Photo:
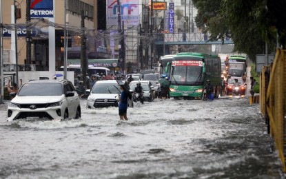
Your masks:
[[[0,105],[0,178],[283,178],[247,98],[159,100],[86,109],[79,120],[6,122]]]

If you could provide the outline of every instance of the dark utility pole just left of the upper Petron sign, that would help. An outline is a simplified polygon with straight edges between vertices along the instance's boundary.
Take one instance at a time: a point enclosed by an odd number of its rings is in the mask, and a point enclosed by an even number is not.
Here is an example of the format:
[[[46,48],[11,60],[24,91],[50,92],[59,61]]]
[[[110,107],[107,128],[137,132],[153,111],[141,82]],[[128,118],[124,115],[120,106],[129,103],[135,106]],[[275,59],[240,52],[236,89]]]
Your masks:
[[[26,23],[29,23],[31,21],[31,0],[26,1],[27,7],[26,7],[26,13],[25,13],[25,20]],[[31,64],[31,30],[30,28],[27,28],[27,34],[25,36],[25,42],[26,42],[26,63]]]

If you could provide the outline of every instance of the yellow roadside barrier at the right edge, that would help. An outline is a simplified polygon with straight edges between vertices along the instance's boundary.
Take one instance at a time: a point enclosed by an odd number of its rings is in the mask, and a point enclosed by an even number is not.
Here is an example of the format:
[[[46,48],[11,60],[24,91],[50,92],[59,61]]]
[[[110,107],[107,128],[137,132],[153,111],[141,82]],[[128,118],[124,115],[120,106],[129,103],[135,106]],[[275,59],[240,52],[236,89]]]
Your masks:
[[[286,172],[286,50],[277,49],[275,60],[270,67],[263,67],[261,74],[261,113],[269,134],[274,138],[276,149]]]

